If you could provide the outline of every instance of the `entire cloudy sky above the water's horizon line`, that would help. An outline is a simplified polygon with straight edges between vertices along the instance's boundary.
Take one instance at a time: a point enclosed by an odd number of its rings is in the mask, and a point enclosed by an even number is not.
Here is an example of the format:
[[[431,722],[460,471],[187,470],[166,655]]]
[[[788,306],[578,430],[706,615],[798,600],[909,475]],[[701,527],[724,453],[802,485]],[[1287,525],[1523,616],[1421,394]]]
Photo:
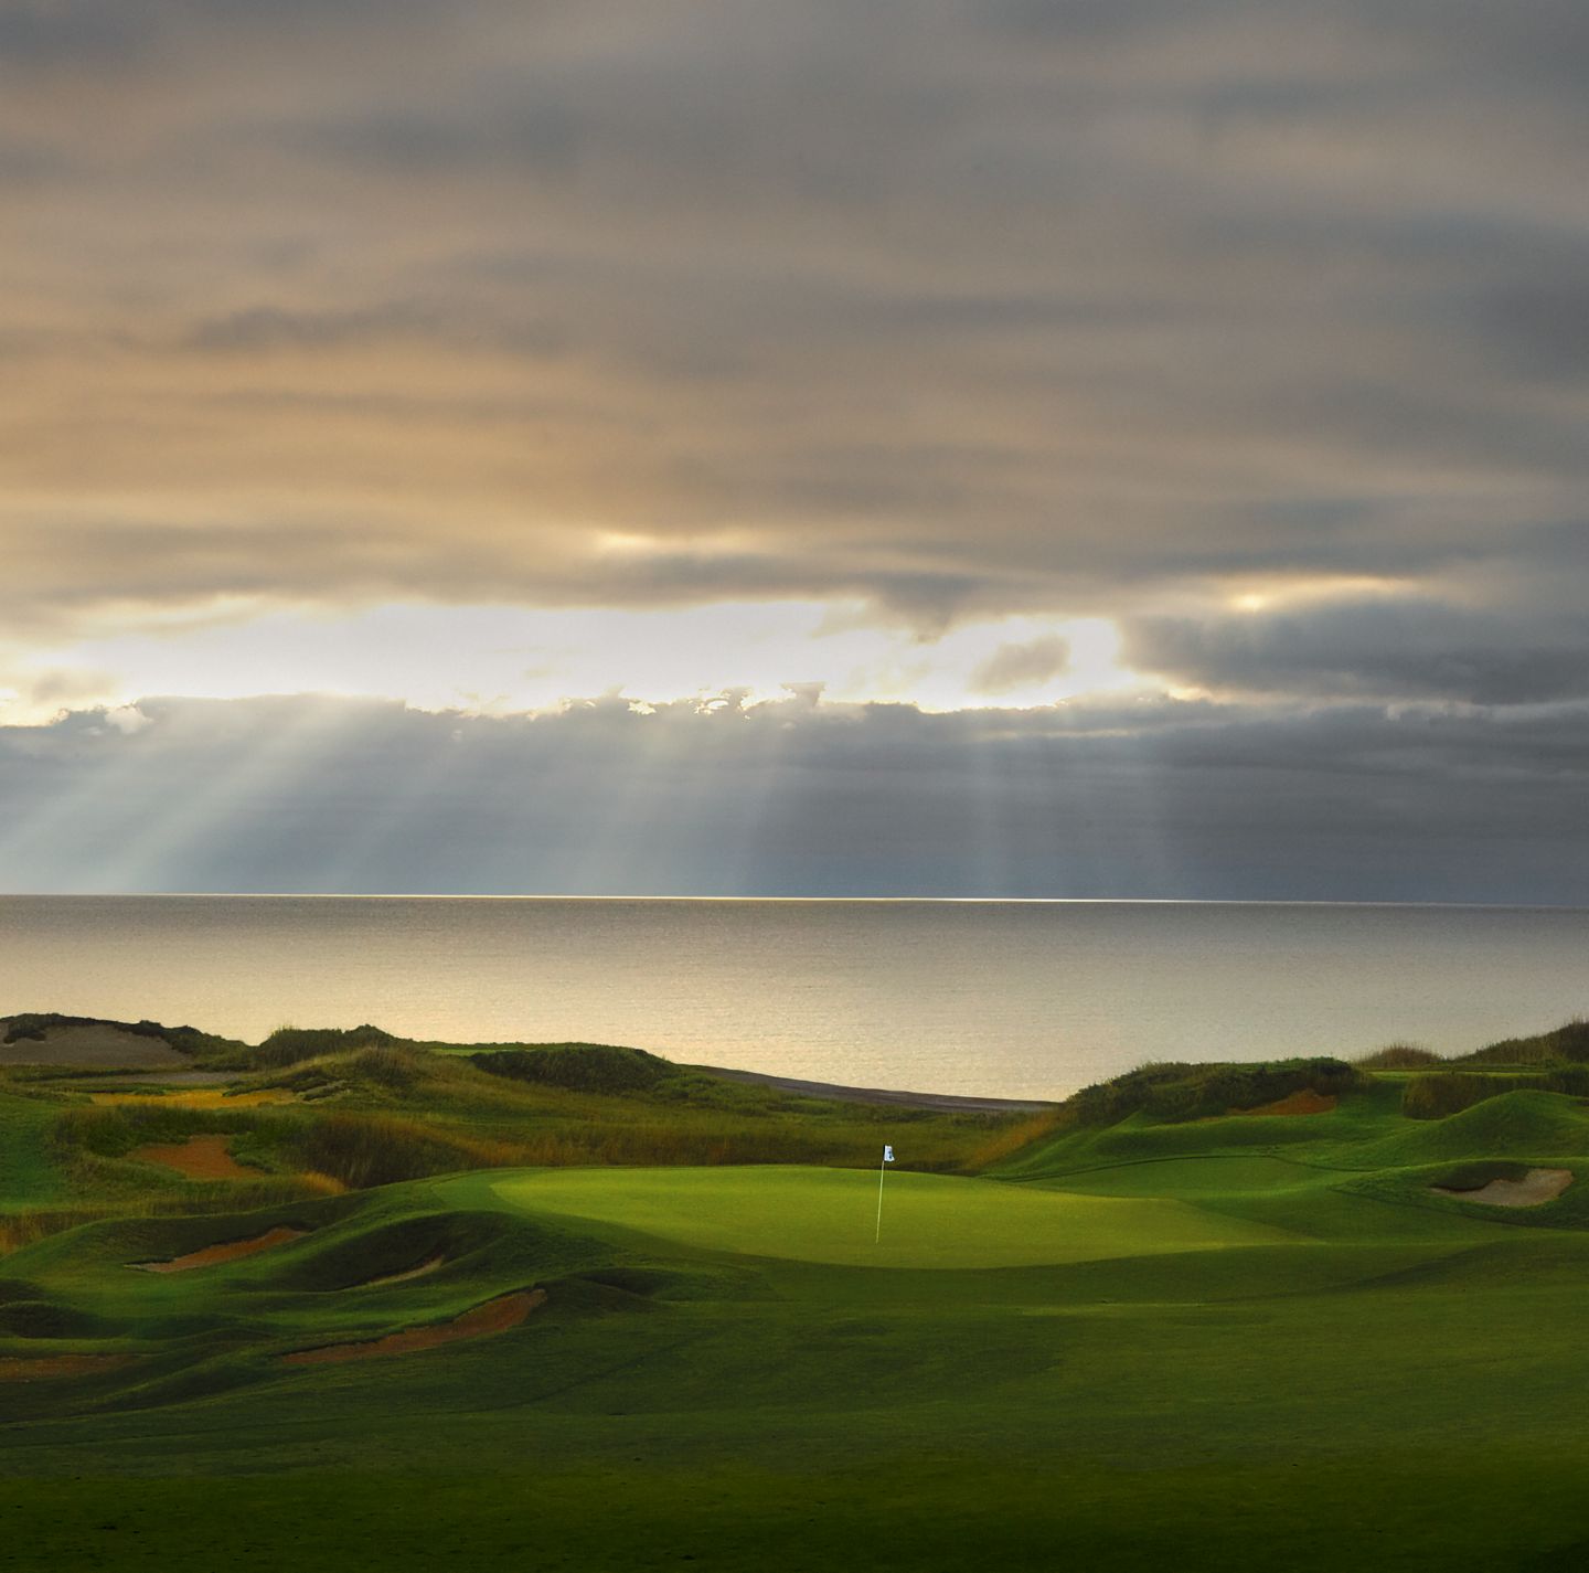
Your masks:
[[[0,0],[0,890],[1589,904],[1575,0]]]

